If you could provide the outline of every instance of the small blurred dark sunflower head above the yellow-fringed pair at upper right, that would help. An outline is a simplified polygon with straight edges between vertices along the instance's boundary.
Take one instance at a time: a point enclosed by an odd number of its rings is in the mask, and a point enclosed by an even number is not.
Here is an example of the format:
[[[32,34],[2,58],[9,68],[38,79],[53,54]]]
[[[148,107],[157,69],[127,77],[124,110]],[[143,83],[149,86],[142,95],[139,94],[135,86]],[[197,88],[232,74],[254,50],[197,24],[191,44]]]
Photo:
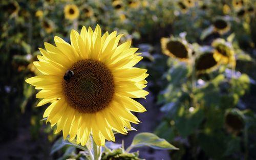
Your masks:
[[[227,33],[230,29],[229,23],[221,17],[216,18],[214,20],[213,25],[214,25],[215,31],[219,32],[220,34]]]

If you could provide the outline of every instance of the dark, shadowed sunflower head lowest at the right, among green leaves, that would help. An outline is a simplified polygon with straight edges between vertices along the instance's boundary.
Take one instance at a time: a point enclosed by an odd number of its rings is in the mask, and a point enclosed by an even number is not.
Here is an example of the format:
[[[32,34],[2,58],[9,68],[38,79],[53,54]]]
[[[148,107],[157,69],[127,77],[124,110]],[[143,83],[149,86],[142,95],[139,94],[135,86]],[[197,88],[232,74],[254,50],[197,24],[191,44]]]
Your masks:
[[[243,114],[238,109],[227,110],[225,126],[228,132],[238,134],[244,128]]]

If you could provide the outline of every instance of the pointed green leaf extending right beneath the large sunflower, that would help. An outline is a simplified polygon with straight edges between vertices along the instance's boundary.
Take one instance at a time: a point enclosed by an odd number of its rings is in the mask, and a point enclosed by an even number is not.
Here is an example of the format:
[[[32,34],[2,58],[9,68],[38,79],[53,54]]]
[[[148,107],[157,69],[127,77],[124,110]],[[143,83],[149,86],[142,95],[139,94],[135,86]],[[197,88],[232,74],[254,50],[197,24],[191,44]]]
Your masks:
[[[160,139],[157,135],[148,132],[142,132],[135,135],[131,146],[127,148],[127,150],[143,146],[161,150],[178,150],[178,148],[169,144],[166,140]]]

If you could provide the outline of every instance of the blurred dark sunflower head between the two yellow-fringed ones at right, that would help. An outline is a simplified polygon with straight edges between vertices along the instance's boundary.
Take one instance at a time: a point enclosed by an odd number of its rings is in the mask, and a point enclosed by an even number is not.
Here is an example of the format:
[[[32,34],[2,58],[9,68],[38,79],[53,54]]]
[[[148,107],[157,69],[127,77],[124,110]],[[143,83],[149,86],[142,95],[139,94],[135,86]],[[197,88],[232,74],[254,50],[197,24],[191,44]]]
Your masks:
[[[210,49],[205,49],[198,55],[195,68],[198,74],[214,71],[218,66],[218,61],[214,58],[214,53]]]

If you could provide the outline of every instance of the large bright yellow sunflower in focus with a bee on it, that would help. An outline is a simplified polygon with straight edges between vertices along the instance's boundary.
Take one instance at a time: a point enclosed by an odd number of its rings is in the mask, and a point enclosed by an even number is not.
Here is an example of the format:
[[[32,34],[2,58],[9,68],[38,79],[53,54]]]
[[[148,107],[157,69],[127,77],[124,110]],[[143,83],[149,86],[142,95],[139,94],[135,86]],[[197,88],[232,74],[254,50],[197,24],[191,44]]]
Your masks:
[[[34,62],[44,75],[26,80],[42,99],[37,106],[53,103],[45,110],[44,118],[51,126],[62,130],[63,138],[76,137],[76,143],[84,146],[90,133],[98,146],[106,140],[115,141],[113,130],[126,134],[131,124],[139,120],[131,111],[146,109],[132,98],[145,98],[148,92],[144,80],[147,70],[134,67],[142,57],[130,48],[131,41],[118,45],[122,35],[114,31],[101,36],[82,27],[79,34],[71,31],[71,44],[55,36],[56,47],[45,43],[39,49],[42,56]]]

